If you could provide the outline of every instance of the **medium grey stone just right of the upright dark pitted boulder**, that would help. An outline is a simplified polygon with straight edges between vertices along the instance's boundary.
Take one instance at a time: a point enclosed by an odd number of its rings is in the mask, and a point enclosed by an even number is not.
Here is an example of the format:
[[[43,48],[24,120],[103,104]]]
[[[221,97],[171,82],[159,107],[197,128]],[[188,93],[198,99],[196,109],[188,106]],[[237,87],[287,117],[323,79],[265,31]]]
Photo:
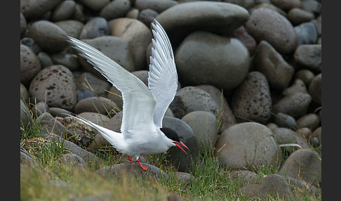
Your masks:
[[[312,96],[308,93],[292,93],[272,105],[272,112],[275,114],[282,112],[297,119],[307,113],[310,103]]]

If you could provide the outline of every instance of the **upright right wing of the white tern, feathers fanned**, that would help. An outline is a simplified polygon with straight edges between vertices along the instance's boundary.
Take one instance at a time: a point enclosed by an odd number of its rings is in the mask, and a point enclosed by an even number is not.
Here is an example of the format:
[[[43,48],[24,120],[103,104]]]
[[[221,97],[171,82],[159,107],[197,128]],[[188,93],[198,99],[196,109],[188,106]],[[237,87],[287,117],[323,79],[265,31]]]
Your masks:
[[[162,127],[162,119],[178,89],[178,74],[172,46],[162,26],[154,20],[152,23],[152,56],[148,73],[148,87],[156,99],[154,124]]]

